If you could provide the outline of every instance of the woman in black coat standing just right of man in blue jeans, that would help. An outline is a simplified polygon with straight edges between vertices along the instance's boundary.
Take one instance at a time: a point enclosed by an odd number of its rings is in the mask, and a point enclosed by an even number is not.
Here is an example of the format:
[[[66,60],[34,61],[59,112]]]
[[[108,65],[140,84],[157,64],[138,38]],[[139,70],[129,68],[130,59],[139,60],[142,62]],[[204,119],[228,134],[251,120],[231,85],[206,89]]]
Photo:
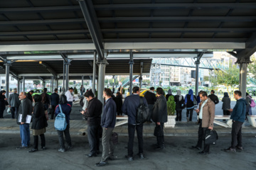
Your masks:
[[[46,138],[44,133],[46,132],[47,120],[43,108],[43,103],[41,101],[41,95],[36,94],[33,96],[33,102],[35,102],[35,106],[33,108],[31,129],[33,129],[34,144],[33,148],[28,151],[29,153],[38,151],[38,135],[40,135],[41,138],[41,148],[43,150],[46,149]]]

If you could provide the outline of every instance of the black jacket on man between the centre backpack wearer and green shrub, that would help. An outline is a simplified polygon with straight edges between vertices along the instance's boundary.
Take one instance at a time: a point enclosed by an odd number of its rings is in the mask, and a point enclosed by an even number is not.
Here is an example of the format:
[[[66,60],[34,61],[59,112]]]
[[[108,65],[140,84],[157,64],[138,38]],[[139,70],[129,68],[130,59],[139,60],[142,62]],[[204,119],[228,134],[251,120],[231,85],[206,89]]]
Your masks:
[[[156,100],[151,118],[155,123],[167,122],[167,103],[164,95],[159,96],[159,98]]]

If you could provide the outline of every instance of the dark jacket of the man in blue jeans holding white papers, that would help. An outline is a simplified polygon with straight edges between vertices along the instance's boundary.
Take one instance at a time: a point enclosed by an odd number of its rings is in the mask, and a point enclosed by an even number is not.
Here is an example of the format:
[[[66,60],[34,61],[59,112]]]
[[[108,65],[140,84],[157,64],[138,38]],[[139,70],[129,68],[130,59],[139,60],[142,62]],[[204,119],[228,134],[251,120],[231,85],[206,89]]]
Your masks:
[[[26,123],[26,116],[31,115],[32,113],[32,103],[28,98],[24,98],[21,101],[21,105],[18,107],[18,115],[22,115],[21,122]],[[17,118],[17,124],[21,125],[21,123],[18,122]]]

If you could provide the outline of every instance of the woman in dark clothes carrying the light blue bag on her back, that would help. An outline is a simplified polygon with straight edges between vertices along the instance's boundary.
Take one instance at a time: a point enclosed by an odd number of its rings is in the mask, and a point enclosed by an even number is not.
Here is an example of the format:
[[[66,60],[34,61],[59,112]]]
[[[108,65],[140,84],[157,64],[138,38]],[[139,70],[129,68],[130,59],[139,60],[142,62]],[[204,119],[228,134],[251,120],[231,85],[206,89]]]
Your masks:
[[[65,130],[63,131],[57,130],[58,138],[60,142],[60,149],[58,149],[58,152],[65,152],[65,141],[68,143],[68,149],[72,147],[70,133],[69,133],[71,106],[70,104],[68,104],[67,97],[65,96],[65,94],[62,94],[60,96],[60,104],[56,106],[55,116],[57,116],[58,113],[60,113],[60,106],[62,108],[63,114],[65,114],[65,120],[68,125],[67,125],[67,128],[65,128]],[[63,133],[65,134],[65,141],[64,141]]]

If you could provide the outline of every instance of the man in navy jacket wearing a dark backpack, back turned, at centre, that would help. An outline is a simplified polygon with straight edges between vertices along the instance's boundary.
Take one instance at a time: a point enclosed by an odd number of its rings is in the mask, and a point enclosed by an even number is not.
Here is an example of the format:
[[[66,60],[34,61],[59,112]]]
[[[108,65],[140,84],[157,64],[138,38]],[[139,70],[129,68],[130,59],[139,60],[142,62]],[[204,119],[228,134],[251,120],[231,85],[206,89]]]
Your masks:
[[[139,98],[139,92],[140,89],[138,86],[134,86],[132,88],[133,94],[130,96],[127,96],[127,98],[124,99],[124,104],[122,106],[122,112],[126,115],[128,115],[128,134],[129,134],[129,142],[128,142],[128,155],[125,157],[128,159],[128,161],[133,161],[133,144],[134,144],[134,133],[135,129],[137,131],[137,137],[139,142],[139,158],[144,159],[143,156],[143,123],[137,123],[136,122],[136,115],[138,111],[138,107],[140,105],[140,98]],[[146,103],[146,99],[143,98],[144,105],[148,106]]]

